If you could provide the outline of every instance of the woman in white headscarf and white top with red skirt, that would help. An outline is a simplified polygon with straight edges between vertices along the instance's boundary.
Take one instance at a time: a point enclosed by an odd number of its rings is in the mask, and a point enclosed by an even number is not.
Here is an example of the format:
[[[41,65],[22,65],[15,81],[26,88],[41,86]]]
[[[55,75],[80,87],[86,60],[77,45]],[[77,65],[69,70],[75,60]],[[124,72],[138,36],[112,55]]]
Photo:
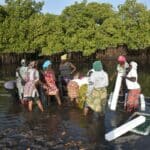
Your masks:
[[[137,63],[132,61],[130,62],[129,72],[124,77],[126,80],[126,85],[128,89],[128,97],[127,97],[127,111],[131,112],[138,108],[139,97],[140,97],[140,85],[138,83],[138,75],[137,75]]]

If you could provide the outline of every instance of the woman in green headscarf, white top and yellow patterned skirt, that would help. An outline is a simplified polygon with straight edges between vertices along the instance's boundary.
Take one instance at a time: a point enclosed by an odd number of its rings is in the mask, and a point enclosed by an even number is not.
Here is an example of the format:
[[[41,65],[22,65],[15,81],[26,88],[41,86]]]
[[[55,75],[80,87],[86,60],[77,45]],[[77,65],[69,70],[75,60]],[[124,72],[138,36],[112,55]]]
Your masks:
[[[89,108],[94,112],[104,115],[107,100],[108,74],[103,70],[101,61],[93,63],[94,72],[90,78],[90,91],[84,108],[84,115],[87,115]]]

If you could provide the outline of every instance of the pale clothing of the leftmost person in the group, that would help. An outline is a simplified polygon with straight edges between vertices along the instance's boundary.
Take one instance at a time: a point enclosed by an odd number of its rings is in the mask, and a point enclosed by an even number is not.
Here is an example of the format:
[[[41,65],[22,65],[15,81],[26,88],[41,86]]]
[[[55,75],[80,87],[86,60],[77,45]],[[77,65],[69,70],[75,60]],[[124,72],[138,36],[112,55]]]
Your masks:
[[[18,89],[18,94],[19,94],[19,99],[23,99],[23,89],[24,89],[24,85],[22,82],[22,79],[25,80],[25,76],[27,74],[27,69],[28,67],[26,66],[21,66],[17,69],[16,71],[16,86]]]

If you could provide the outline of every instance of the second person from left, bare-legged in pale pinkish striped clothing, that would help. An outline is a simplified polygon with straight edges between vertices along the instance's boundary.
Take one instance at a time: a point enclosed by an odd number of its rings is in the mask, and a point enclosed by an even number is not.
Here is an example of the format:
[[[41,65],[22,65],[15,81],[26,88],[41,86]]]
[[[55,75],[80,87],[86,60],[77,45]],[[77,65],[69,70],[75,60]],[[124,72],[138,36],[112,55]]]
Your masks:
[[[28,109],[32,111],[33,101],[35,100],[39,109],[43,112],[43,106],[39,99],[39,93],[36,88],[36,83],[39,81],[39,72],[36,69],[36,62],[32,61],[26,75],[26,84],[24,86],[24,100],[28,101]]]

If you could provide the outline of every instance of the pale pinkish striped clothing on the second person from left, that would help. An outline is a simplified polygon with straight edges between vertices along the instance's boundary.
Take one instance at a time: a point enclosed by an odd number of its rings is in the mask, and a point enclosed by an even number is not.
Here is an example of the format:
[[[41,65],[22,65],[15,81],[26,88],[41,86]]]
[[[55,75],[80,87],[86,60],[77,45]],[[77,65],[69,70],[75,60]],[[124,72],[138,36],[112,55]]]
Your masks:
[[[39,99],[39,93],[35,83],[39,80],[39,72],[34,68],[30,68],[26,75],[26,84],[24,86],[24,100]]]

